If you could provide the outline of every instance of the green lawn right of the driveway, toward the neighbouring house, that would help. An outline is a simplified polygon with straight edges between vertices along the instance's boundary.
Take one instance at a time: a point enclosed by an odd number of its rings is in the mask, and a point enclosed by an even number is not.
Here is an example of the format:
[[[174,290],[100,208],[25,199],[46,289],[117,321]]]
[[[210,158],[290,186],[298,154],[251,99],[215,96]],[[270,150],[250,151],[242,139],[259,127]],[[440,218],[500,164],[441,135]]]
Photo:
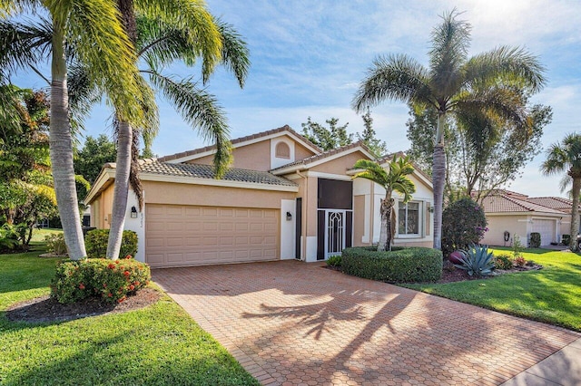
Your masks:
[[[496,248],[495,253],[510,252]],[[523,255],[544,268],[485,280],[405,286],[581,331],[581,256],[532,248]]]

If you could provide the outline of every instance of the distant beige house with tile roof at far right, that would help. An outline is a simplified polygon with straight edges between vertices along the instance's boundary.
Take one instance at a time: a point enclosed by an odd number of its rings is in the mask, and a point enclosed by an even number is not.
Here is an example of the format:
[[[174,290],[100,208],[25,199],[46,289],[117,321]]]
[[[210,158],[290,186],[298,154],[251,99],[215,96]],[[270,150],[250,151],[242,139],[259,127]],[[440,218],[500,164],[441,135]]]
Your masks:
[[[513,236],[518,235],[526,246],[530,234],[538,232],[541,246],[547,246],[560,242],[570,232],[572,202],[566,198],[531,198],[498,189],[484,198],[482,207],[488,220],[488,232],[482,244],[511,246]]]

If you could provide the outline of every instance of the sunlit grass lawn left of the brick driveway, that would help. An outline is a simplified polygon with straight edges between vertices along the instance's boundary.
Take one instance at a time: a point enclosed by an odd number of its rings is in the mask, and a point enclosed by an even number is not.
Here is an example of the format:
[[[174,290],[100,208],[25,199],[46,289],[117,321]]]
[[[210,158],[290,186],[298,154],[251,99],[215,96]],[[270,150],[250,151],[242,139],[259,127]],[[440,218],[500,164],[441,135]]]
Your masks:
[[[124,314],[65,323],[11,323],[10,304],[48,294],[55,258],[0,255],[0,384],[258,385],[164,295]]]

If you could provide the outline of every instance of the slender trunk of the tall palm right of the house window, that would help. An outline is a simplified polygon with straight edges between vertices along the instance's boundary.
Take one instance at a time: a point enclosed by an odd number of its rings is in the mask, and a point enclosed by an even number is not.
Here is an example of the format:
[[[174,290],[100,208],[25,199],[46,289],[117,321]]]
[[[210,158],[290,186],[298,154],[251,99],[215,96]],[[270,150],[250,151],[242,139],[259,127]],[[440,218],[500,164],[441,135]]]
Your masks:
[[[444,117],[438,114],[438,129],[432,166],[432,185],[434,188],[434,248],[442,249],[442,209],[444,203],[444,184],[446,182],[446,152],[444,151]]]

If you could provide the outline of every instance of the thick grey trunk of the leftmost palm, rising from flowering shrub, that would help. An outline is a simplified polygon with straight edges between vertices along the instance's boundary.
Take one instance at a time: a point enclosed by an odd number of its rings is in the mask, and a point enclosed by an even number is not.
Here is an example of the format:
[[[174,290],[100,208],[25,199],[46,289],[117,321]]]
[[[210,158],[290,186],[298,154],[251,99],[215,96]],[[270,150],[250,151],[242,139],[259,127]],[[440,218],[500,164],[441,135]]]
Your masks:
[[[74,183],[73,137],[69,121],[66,63],[64,61],[64,25],[56,19],[53,20],[53,25],[50,156],[54,192],[63,224],[64,242],[69,257],[78,260],[87,254],[84,249],[81,215]]]

